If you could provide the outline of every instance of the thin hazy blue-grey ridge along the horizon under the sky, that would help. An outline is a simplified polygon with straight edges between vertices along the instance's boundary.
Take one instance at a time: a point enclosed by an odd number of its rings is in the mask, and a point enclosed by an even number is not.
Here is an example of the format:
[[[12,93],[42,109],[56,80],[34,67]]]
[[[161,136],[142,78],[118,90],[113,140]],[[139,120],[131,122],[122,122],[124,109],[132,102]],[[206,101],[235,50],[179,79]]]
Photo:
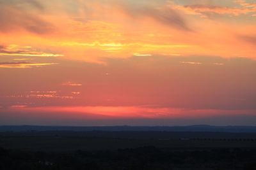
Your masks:
[[[256,132],[256,126],[42,126],[42,125],[1,125],[0,132],[24,131],[168,131],[168,132]]]

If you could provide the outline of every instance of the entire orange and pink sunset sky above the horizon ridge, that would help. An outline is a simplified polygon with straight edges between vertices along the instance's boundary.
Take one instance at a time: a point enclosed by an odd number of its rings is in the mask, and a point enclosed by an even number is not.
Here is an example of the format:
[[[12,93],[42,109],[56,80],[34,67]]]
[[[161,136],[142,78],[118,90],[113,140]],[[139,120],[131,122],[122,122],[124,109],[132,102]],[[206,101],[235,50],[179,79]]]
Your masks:
[[[0,125],[256,125],[255,0],[0,0]]]

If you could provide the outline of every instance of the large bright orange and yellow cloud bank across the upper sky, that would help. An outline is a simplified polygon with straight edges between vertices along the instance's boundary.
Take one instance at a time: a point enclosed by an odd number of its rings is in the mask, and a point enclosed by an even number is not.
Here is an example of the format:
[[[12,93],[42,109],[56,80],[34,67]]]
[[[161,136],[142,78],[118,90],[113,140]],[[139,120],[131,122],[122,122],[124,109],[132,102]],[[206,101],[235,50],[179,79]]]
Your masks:
[[[7,45],[33,46],[33,49],[17,48],[16,53],[2,52],[2,55],[61,57],[100,64],[106,64],[105,60],[109,58],[166,54],[255,58],[255,49],[236,36],[244,32],[253,34],[253,22],[232,22],[233,19],[224,16],[223,20],[207,20],[187,15],[252,13],[254,8],[248,4],[234,7],[211,3],[186,6],[172,2],[72,1],[70,3],[74,3],[77,11],[74,13],[66,1],[58,6],[46,1],[37,2],[39,5],[22,3],[20,10],[26,11],[25,6],[31,6],[33,10],[27,12],[47,19],[56,31],[34,34],[17,29],[12,33],[15,38],[2,32],[0,39],[4,39]],[[34,48],[47,49],[47,52]]]

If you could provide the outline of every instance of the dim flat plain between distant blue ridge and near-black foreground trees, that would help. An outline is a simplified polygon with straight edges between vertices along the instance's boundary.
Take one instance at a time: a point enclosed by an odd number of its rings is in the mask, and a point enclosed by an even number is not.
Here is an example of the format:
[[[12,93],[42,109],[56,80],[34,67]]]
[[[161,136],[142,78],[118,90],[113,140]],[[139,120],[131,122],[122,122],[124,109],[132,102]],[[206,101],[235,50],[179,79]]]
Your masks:
[[[0,146],[19,150],[72,151],[157,148],[256,148],[256,134],[207,132],[4,132]]]

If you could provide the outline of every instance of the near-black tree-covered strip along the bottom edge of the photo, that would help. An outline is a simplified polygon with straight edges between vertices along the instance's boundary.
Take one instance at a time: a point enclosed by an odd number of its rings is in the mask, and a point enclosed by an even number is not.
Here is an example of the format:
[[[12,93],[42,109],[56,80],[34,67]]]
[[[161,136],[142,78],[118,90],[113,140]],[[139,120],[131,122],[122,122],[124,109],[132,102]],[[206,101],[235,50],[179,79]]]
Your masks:
[[[115,151],[31,152],[0,148],[0,169],[256,169],[254,149],[172,150],[154,146]]]

